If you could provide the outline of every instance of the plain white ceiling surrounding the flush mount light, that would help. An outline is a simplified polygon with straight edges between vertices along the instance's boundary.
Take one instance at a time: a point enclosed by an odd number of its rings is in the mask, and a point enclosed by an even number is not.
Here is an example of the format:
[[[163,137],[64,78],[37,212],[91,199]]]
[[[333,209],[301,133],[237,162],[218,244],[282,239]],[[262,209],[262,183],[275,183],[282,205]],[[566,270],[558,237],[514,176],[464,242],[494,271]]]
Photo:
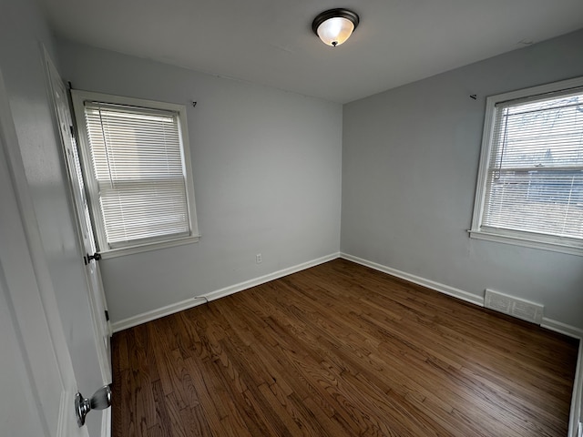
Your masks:
[[[340,103],[583,27],[582,0],[38,1],[68,39]],[[339,47],[333,7],[361,17]]]

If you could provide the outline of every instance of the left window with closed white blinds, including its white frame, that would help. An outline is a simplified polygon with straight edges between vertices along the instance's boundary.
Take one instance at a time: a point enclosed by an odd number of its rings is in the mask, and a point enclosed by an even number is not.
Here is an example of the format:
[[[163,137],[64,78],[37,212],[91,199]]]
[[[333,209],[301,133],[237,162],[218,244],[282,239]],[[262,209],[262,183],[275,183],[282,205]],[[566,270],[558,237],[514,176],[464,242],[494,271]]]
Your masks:
[[[104,258],[198,240],[186,108],[72,91]]]

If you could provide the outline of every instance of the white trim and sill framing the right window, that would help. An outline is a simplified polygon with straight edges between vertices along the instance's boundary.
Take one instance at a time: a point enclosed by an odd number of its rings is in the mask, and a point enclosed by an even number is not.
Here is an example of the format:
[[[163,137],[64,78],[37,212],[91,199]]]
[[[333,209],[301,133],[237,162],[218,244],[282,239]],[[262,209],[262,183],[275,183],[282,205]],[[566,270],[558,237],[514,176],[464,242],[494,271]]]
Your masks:
[[[482,135],[482,150],[480,153],[476,198],[474,200],[474,214],[472,217],[472,228],[468,230],[471,238],[583,256],[583,241],[577,242],[573,240],[564,240],[553,238],[551,236],[542,236],[531,232],[506,229],[496,230],[496,232],[482,229],[482,216],[486,203],[486,178],[488,163],[492,151],[491,144],[494,136],[496,103],[517,98],[544,95],[580,86],[583,86],[583,77],[576,77],[574,79],[562,80],[560,82],[541,86],[532,86],[486,98],[486,116],[484,120],[484,132]]]

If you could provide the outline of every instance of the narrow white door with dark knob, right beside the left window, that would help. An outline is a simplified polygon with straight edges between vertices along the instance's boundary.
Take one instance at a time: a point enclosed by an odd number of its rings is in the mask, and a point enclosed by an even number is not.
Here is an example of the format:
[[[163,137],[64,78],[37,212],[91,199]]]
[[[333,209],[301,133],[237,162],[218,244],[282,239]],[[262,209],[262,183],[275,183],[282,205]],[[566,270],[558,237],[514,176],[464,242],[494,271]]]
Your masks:
[[[99,355],[99,365],[104,381],[111,382],[111,351],[109,349],[109,338],[111,328],[107,317],[107,303],[101,281],[101,273],[96,259],[91,259],[96,252],[95,239],[89,208],[87,205],[87,196],[85,193],[85,184],[81,170],[81,162],[75,139],[73,120],[68,103],[66,87],[56,71],[56,67],[51,62],[45,52],[46,68],[49,76],[51,92],[55,104],[56,119],[59,126],[63,154],[66,160],[66,169],[69,184],[73,195],[73,204],[77,215],[77,230],[79,235],[79,244],[83,253],[85,253],[87,286],[89,289],[89,303],[93,314],[93,325],[97,339],[97,353]]]

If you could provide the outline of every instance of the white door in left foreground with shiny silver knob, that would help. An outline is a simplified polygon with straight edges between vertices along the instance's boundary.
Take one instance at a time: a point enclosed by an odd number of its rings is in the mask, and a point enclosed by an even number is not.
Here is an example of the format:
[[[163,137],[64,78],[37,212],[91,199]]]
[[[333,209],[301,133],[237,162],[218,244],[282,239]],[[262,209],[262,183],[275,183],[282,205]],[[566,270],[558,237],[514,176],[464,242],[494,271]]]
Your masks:
[[[0,206],[0,434],[87,437],[1,72]]]

